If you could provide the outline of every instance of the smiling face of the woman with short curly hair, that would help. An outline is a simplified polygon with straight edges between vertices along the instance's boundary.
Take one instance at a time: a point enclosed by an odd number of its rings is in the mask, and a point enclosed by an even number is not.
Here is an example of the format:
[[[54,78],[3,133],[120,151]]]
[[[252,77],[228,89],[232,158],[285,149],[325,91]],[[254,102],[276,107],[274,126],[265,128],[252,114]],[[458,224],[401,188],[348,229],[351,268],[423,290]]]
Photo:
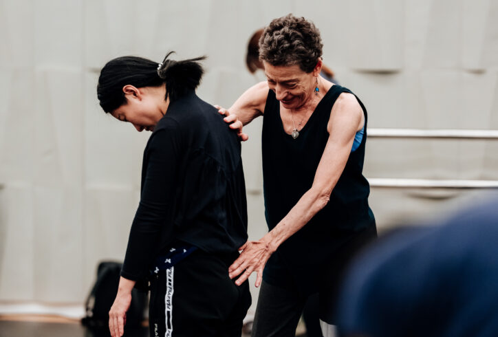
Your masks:
[[[316,86],[316,76],[320,73],[315,67],[306,73],[299,65],[271,65],[263,61],[268,87],[275,92],[277,100],[286,109],[299,109],[312,98]]]

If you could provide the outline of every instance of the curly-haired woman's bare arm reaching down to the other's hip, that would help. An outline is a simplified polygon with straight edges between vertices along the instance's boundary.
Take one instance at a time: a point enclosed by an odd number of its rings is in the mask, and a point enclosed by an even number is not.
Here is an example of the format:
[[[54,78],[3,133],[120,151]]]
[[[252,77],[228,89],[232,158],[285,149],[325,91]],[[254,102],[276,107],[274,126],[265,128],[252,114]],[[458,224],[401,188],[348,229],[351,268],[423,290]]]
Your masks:
[[[354,95],[339,96],[330,113],[327,124],[329,139],[316,169],[312,187],[268,234],[259,241],[248,241],[241,247],[243,252],[229,268],[230,278],[243,272],[237,279],[237,284],[246,281],[255,271],[258,274],[256,286],[259,286],[263,268],[270,255],[329,202],[330,194],[351,153],[356,131],[362,127],[362,116],[363,111]]]

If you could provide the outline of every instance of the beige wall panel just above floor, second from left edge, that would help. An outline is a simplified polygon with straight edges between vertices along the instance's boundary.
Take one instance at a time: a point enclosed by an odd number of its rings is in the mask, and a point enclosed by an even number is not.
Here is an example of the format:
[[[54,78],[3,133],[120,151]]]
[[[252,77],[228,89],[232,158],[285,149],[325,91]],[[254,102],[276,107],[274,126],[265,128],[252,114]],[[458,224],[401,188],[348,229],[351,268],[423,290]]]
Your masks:
[[[33,189],[34,299],[83,301],[83,191],[35,186]]]

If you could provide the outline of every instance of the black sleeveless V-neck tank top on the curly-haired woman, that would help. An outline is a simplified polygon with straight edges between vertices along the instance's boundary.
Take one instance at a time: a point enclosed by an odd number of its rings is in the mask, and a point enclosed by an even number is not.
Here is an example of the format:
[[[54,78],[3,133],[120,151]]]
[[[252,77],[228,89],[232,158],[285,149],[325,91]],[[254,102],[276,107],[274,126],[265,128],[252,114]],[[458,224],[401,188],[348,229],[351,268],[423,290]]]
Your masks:
[[[280,117],[280,103],[273,91],[268,92],[263,114],[263,193],[265,215],[271,230],[289,213],[313,184],[318,163],[329,138],[327,123],[334,102],[349,89],[332,86],[295,140],[285,133]],[[351,93],[352,94],[352,93]],[[329,259],[338,237],[351,237],[369,226],[375,226],[374,214],[368,204],[369,184],[362,175],[367,140],[367,110],[364,134],[360,146],[349,154],[342,175],[334,187],[328,204],[272,254],[263,277],[275,283],[270,275],[285,265],[294,268],[314,268]],[[312,267],[312,265],[314,267]]]

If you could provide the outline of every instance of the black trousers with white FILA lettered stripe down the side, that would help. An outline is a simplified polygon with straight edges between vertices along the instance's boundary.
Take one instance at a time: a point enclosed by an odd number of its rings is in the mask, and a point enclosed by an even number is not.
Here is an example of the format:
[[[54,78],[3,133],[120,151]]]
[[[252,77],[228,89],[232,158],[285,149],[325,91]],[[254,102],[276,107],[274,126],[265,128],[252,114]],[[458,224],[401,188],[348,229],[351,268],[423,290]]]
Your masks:
[[[247,281],[237,286],[228,277],[237,257],[197,250],[158,272],[151,281],[151,336],[240,337],[251,296]]]

